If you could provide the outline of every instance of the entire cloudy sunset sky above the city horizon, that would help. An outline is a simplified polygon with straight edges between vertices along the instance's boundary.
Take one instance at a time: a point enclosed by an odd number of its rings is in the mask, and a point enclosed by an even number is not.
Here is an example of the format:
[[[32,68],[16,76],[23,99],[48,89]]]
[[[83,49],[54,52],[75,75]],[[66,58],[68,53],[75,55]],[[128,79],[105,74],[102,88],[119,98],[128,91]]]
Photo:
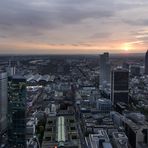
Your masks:
[[[148,0],[0,0],[1,54],[147,48]]]

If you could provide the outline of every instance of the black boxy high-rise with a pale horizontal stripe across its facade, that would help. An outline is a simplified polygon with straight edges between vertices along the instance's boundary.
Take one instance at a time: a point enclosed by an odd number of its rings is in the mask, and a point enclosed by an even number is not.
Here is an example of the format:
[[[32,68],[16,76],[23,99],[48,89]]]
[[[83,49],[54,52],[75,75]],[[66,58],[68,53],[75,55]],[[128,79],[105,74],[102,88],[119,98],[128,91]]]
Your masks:
[[[117,102],[129,102],[129,72],[123,68],[117,68],[111,74],[111,101],[114,106]]]

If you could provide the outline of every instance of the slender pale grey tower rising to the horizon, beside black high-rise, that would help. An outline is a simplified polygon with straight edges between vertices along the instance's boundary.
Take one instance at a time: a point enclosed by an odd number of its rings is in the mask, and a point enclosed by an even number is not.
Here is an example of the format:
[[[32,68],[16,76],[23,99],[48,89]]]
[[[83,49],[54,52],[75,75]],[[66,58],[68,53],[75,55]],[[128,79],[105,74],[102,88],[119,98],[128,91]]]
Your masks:
[[[109,53],[100,55],[100,86],[110,83]]]

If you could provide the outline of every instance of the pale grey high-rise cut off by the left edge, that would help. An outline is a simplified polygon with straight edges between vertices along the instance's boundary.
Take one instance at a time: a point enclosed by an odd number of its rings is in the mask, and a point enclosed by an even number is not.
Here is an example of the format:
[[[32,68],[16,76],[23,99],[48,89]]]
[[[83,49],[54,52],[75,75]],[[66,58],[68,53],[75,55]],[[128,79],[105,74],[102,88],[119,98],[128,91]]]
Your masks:
[[[7,128],[7,73],[0,72],[0,134]]]

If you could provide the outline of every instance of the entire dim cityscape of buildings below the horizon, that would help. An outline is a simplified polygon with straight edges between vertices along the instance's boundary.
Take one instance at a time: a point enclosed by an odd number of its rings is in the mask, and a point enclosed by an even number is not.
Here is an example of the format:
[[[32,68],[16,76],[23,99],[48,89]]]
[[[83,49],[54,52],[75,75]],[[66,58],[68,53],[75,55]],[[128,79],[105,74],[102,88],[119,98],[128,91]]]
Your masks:
[[[112,55],[1,56],[0,147],[147,148],[148,52]]]

